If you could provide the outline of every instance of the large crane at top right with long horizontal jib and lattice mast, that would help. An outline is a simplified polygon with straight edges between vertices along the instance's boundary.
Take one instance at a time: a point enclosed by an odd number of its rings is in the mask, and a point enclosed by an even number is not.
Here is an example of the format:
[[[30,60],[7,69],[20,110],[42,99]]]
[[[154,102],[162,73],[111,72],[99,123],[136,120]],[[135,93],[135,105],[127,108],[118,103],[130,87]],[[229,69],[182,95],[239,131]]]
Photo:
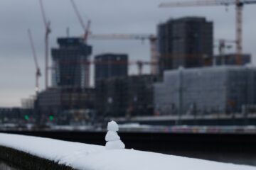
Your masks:
[[[242,55],[242,7],[245,4],[256,4],[255,0],[201,0],[201,1],[178,1],[161,3],[159,7],[189,7],[189,6],[229,6],[235,5],[236,11],[236,64],[240,64]]]

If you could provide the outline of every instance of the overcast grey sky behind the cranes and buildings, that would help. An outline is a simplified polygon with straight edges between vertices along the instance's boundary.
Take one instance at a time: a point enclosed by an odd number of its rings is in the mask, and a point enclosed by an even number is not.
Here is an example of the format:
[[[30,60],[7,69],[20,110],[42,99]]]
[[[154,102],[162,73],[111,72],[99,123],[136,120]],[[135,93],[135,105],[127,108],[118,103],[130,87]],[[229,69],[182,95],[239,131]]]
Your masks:
[[[169,0],[176,1],[176,0]],[[192,0],[193,1],[193,0]],[[75,0],[82,17],[92,20],[92,33],[156,33],[156,25],[169,18],[205,16],[214,22],[215,39],[235,38],[235,11],[230,6],[195,8],[158,8],[161,0]],[[50,47],[56,38],[82,34],[70,0],[43,0],[53,32]],[[256,6],[245,6],[243,15],[244,52],[256,55]],[[0,1],[0,107],[20,106],[21,98],[34,94],[35,66],[28,42],[27,29],[33,33],[38,60],[43,71],[44,27],[38,0]],[[90,40],[93,55],[102,52],[126,52],[130,60],[149,60],[148,42]],[[255,60],[253,58],[253,60]],[[136,69],[130,71],[136,73]],[[44,87],[41,77],[41,88]]]

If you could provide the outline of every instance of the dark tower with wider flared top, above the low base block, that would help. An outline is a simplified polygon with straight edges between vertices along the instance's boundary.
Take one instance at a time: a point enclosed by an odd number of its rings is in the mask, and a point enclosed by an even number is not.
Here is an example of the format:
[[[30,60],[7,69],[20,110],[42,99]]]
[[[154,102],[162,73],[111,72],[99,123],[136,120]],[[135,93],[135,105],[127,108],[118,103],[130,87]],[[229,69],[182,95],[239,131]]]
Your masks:
[[[59,47],[51,50],[53,86],[88,87],[92,47],[82,38],[58,38],[57,42]]]

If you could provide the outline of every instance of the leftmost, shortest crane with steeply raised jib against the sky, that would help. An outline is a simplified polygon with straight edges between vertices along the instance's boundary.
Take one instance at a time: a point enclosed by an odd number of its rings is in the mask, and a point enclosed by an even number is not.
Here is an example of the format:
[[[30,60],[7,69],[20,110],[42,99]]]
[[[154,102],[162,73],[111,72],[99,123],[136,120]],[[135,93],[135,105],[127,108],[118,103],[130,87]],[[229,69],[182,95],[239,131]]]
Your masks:
[[[34,60],[35,65],[36,65],[36,94],[38,94],[38,91],[39,91],[39,78],[41,77],[41,70],[40,70],[39,65],[38,65],[38,60],[37,60],[37,57],[36,57],[36,50],[35,50],[35,45],[33,43],[33,38],[32,38],[32,34],[31,34],[31,30],[29,30],[29,29],[28,29],[28,39],[29,39],[29,42],[31,44],[33,60]]]

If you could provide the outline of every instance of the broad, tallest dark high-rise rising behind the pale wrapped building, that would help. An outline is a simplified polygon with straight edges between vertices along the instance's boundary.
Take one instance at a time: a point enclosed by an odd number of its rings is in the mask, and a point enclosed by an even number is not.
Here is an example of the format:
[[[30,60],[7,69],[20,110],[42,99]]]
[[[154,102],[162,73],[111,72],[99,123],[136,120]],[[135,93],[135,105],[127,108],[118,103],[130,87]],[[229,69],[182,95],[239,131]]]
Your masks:
[[[203,67],[213,57],[213,23],[201,17],[170,19],[158,26],[159,73]]]

